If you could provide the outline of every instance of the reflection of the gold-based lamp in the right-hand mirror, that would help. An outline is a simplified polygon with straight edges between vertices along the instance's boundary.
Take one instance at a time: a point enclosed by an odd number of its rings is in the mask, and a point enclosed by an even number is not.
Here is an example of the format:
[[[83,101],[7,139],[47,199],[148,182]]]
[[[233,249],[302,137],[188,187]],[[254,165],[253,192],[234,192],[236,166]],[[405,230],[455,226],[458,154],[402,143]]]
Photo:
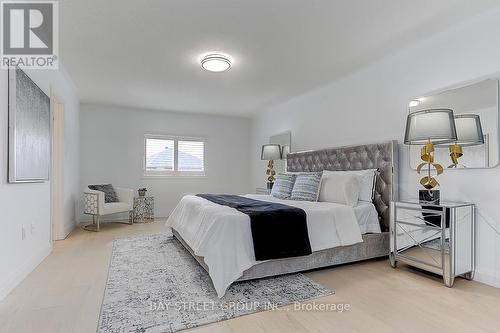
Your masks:
[[[457,130],[457,141],[449,145],[452,164],[448,168],[457,168],[458,159],[463,156],[462,147],[477,146],[484,144],[481,119],[477,114],[459,114],[455,116],[455,128]],[[462,165],[462,167],[466,167]]]

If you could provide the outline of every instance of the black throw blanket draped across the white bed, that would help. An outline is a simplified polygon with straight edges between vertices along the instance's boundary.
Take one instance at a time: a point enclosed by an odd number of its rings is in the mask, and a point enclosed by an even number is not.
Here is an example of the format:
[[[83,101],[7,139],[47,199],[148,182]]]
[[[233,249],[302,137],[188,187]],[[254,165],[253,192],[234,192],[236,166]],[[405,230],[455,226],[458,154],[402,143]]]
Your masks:
[[[229,194],[197,194],[250,217],[256,260],[311,254],[306,212],[300,208]],[[228,249],[231,251],[231,249]]]

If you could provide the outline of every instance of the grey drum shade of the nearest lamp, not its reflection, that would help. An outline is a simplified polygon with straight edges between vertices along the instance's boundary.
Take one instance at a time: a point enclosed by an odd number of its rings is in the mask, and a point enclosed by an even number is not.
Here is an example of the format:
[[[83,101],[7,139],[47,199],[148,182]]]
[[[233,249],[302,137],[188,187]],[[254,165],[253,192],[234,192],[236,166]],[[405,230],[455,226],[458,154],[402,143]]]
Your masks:
[[[434,144],[457,140],[453,110],[431,109],[412,112],[408,115],[405,144],[422,145],[429,140]]]

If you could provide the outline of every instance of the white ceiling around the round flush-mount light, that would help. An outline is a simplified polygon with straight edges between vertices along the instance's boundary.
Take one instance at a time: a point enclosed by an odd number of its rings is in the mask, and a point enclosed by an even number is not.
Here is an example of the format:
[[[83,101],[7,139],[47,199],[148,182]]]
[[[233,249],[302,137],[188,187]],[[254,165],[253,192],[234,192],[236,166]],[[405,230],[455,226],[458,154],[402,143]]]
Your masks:
[[[348,74],[497,0],[64,0],[60,59],[82,102],[236,116]],[[225,73],[200,56],[228,53]]]

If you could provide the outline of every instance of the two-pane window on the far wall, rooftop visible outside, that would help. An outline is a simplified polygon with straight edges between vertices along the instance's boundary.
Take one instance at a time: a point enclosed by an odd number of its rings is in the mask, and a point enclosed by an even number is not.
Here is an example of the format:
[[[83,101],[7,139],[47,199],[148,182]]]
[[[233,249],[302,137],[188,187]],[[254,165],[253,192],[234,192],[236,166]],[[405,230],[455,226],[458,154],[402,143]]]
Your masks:
[[[205,140],[201,138],[146,135],[146,176],[204,176]]]

